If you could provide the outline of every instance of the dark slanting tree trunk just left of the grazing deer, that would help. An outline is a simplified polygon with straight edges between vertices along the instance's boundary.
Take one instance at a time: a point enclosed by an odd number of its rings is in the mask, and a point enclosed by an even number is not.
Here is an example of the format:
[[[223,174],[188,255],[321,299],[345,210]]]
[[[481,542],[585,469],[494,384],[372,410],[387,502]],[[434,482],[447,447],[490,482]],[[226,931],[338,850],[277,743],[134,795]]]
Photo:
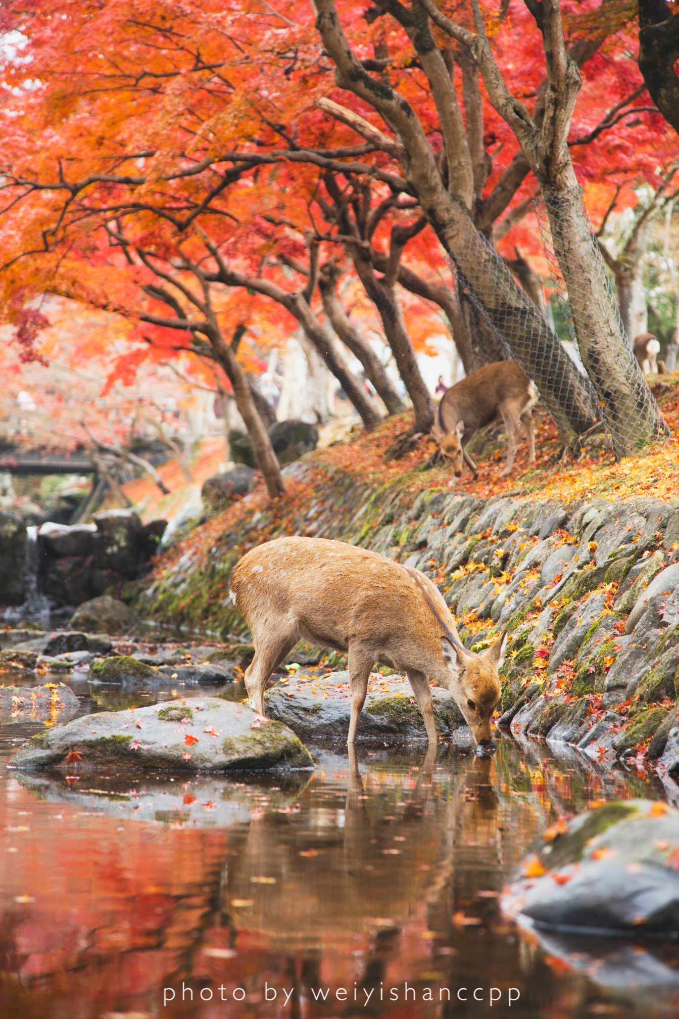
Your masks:
[[[399,375],[412,400],[412,408],[415,412],[415,431],[427,434],[432,430],[434,424],[436,405],[419,374],[415,352],[406,331],[401,307],[394,288],[387,286],[377,278],[373,266],[361,258],[357,248],[353,247],[351,257],[358,278],[365,287],[365,292],[380,313],[387,342],[391,346]]]

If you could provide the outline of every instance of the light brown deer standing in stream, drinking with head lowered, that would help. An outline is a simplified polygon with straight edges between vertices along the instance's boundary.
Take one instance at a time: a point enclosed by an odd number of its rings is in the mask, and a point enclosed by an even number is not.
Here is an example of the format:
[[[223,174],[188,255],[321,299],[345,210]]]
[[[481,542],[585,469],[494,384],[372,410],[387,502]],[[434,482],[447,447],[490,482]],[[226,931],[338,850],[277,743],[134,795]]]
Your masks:
[[[256,711],[264,714],[271,674],[303,639],[348,652],[349,744],[379,661],[405,672],[430,743],[437,732],[428,677],[450,690],[476,743],[492,749],[507,634],[479,654],[467,651],[441,592],[418,570],[341,541],[278,538],[236,564],[230,589],[252,632],[245,687]]]

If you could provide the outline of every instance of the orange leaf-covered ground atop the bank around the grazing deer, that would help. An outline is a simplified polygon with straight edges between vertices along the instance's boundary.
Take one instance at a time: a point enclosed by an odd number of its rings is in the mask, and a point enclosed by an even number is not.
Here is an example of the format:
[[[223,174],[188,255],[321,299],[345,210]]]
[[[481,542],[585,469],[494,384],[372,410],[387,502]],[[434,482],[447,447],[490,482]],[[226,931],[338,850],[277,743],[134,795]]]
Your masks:
[[[524,438],[519,446],[514,473],[509,478],[502,478],[506,437],[499,426],[491,426],[485,435],[477,435],[469,446],[478,466],[478,480],[474,481],[465,469],[461,478],[453,479],[454,490],[478,498],[510,492],[530,494],[535,499],[558,498],[564,501],[598,495],[610,499],[642,495],[674,498],[679,494],[679,373],[665,376],[657,391],[671,434],[664,442],[648,444],[637,457],[616,463],[602,436],[590,439],[576,461],[569,454],[560,455],[561,446],[556,428],[545,411],[539,409],[535,413],[536,462],[532,467],[528,467],[528,447]],[[317,483],[326,482],[332,474],[355,478],[357,484],[390,487],[395,484],[408,492],[447,487],[451,481],[451,473],[447,468],[426,468],[437,448],[430,436],[420,439],[417,446],[402,460],[385,463],[386,450],[410,423],[411,414],[406,413],[383,421],[370,433],[356,426],[340,444],[318,449],[309,454],[312,480],[300,482],[294,478],[287,479],[286,496],[273,504],[269,501],[264,485],[260,485],[245,502],[236,502],[212,518],[170,550],[163,557],[163,569],[189,548],[199,552],[201,549],[209,549],[225,531],[258,511],[273,509],[273,514],[268,515],[268,519],[273,522],[259,532],[262,539],[270,531],[285,533],[288,530],[286,522],[291,523],[295,517],[298,518],[304,506],[313,508]],[[208,440],[208,445],[191,465],[196,483],[202,483],[211,473],[216,473],[218,464],[223,459],[223,449],[221,439]],[[168,461],[159,468],[159,473],[168,487],[173,489],[173,496],[162,497],[150,477],[123,486],[128,496],[142,508],[145,521],[168,514],[177,498],[174,493],[181,484],[177,465]],[[290,533],[293,530],[290,527]]]

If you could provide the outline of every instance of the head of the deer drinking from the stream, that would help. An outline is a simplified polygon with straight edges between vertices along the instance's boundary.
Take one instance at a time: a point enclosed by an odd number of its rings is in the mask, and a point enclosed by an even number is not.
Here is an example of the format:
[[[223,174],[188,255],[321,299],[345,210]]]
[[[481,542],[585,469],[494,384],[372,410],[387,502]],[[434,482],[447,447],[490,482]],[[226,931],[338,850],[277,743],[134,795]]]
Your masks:
[[[441,638],[443,660],[450,677],[448,689],[480,746],[493,746],[493,712],[500,700],[498,669],[505,660],[507,631],[479,654],[464,652]]]

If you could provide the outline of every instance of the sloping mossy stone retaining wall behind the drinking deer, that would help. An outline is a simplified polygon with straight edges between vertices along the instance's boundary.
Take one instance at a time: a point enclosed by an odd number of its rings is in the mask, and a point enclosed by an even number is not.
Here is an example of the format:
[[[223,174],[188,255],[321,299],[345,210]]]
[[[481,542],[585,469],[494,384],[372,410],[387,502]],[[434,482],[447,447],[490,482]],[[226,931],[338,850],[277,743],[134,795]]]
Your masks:
[[[297,478],[310,462],[286,469]],[[282,534],[336,538],[416,567],[444,593],[464,645],[507,629],[501,723],[607,754],[663,758],[679,776],[679,500],[563,504],[454,491],[413,494],[314,475],[313,496],[277,526],[245,516],[207,552],[157,569],[135,608],[161,622],[239,633],[235,561]],[[677,731],[677,739],[672,735]],[[671,756],[671,755],[670,755]]]

